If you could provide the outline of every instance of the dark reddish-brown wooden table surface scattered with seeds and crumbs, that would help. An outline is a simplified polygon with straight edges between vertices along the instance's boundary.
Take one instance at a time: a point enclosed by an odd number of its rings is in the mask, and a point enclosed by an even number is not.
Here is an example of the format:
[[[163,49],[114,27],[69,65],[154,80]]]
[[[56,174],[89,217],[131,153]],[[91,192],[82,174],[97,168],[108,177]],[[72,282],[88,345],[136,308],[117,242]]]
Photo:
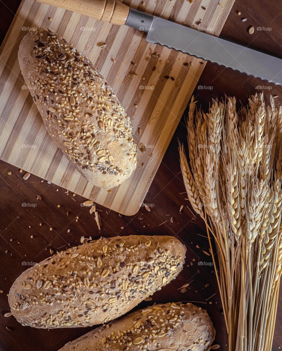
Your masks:
[[[20,0],[0,2],[1,41],[19,4]],[[238,15],[237,11],[240,11],[241,15]],[[247,21],[242,22],[242,18],[247,18]],[[221,37],[282,57],[281,21],[282,3],[279,1],[238,0],[235,1]],[[251,25],[255,28],[253,35],[247,31]],[[258,27],[270,29],[259,30]],[[234,95],[238,104],[241,101],[241,104],[245,105],[248,96],[262,91],[262,87],[266,100],[271,93],[278,95],[277,104],[282,102],[280,86],[210,63],[206,65],[198,85],[212,86],[211,90],[195,89],[196,99],[204,108],[209,106],[213,98],[221,99],[225,94]],[[22,178],[24,173],[20,173],[18,168],[0,161],[1,350],[55,351],[66,342],[91,330],[90,327],[50,331],[23,327],[13,317],[4,317],[4,314],[9,312],[7,294],[14,279],[27,265],[50,256],[50,249],[60,251],[77,245],[81,236],[97,239],[100,236],[110,237],[117,234],[166,234],[176,236],[185,243],[187,254],[184,270],[176,280],[155,293],[151,302],[143,302],[139,307],[153,302],[195,302],[208,311],[217,332],[215,342],[221,345],[221,350],[227,350],[222,305],[213,267],[198,265],[200,261],[211,261],[203,252],[209,248],[205,226],[191,211],[179,167],[177,146],[178,139],[183,142],[186,140],[185,116],[186,113],[147,193],[145,202],[152,205],[151,212],[142,207],[135,216],[125,217],[97,205],[97,209],[101,211],[101,231],[98,230],[94,215],[89,213],[89,209],[80,206],[84,201],[82,197],[73,196],[65,189],[48,184],[33,175],[25,181]],[[12,174],[8,175],[8,172]],[[41,200],[37,199],[38,194]],[[35,204],[36,207],[22,207],[22,203]],[[184,208],[179,213],[182,205]],[[170,221],[171,217],[174,218],[173,223]],[[50,227],[53,231],[50,231]],[[186,283],[190,283],[186,291],[179,290]],[[282,291],[273,350],[280,349],[280,345],[282,347],[281,314]]]

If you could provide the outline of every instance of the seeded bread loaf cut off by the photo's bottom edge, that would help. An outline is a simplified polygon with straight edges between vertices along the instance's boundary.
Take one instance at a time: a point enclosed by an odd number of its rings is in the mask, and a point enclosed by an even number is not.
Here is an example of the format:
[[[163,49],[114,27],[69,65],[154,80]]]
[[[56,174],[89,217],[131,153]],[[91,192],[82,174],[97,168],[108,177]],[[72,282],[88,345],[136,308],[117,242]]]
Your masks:
[[[67,343],[59,351],[204,351],[215,329],[205,310],[169,303],[135,311]]]

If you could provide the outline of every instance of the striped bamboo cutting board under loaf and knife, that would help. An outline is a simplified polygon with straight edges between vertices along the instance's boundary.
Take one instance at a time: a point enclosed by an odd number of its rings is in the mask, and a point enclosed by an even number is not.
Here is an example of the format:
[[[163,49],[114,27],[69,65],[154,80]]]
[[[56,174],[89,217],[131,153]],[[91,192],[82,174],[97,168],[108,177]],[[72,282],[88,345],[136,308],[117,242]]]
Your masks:
[[[219,35],[234,1],[132,0],[126,4]],[[84,53],[131,117],[137,169],[111,192],[89,183],[58,150],[26,89],[18,48],[29,28],[40,27],[57,32]],[[0,158],[114,211],[133,215],[143,203],[204,66],[203,60],[147,43],[145,34],[133,28],[23,0],[0,49]]]

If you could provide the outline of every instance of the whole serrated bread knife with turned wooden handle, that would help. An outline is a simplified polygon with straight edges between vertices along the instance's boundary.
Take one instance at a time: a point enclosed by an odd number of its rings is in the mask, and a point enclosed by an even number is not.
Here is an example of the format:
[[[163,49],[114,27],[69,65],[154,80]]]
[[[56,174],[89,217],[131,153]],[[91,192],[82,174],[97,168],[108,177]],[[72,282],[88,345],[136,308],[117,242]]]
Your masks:
[[[282,60],[175,22],[130,8],[116,0],[33,0],[147,33],[146,41],[282,85]],[[204,29],[204,28],[203,28]]]

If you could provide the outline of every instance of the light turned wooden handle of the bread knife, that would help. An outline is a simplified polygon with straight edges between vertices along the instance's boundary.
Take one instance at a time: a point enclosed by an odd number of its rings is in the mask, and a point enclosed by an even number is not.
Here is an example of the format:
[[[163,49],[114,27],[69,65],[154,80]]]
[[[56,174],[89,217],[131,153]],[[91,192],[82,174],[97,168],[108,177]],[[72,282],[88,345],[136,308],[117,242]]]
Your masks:
[[[129,6],[116,0],[33,0],[42,4],[65,8],[97,20],[123,25],[129,14]]]

